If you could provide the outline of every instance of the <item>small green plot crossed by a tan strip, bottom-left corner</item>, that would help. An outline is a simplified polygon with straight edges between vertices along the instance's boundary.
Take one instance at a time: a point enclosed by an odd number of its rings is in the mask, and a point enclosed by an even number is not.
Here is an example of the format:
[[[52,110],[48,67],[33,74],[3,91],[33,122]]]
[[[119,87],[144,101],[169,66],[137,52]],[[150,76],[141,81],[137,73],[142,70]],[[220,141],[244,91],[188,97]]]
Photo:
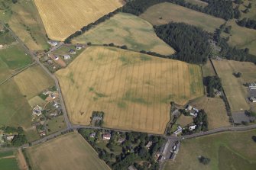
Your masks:
[[[0,169],[1,170],[18,170],[18,163],[15,159],[14,152],[0,152]]]

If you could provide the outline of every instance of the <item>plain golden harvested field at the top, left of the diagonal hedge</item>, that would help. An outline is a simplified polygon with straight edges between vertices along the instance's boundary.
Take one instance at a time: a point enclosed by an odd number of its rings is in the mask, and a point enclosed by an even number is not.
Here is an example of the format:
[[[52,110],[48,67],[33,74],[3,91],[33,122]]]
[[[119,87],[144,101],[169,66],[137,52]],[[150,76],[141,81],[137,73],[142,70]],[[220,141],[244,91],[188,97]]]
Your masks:
[[[65,40],[77,30],[120,8],[120,0],[34,0],[48,37]]]

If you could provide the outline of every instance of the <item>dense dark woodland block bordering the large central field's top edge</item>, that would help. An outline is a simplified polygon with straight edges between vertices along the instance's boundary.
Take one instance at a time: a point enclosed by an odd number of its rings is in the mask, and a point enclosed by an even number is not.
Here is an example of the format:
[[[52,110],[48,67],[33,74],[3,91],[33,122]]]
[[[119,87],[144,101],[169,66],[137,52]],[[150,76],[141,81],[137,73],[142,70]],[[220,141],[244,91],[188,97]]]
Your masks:
[[[184,23],[170,23],[154,27],[158,37],[174,50],[173,58],[188,63],[206,63],[211,52],[209,34],[199,27]]]

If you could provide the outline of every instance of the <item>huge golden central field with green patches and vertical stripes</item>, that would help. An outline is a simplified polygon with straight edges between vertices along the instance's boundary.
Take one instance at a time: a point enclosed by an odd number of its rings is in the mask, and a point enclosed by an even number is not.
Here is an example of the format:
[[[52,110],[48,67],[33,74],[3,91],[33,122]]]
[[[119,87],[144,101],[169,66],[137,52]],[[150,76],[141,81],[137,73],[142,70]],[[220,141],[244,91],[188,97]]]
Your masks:
[[[203,95],[199,66],[113,47],[89,47],[56,75],[76,124],[104,111],[104,127],[164,133],[170,101]]]

